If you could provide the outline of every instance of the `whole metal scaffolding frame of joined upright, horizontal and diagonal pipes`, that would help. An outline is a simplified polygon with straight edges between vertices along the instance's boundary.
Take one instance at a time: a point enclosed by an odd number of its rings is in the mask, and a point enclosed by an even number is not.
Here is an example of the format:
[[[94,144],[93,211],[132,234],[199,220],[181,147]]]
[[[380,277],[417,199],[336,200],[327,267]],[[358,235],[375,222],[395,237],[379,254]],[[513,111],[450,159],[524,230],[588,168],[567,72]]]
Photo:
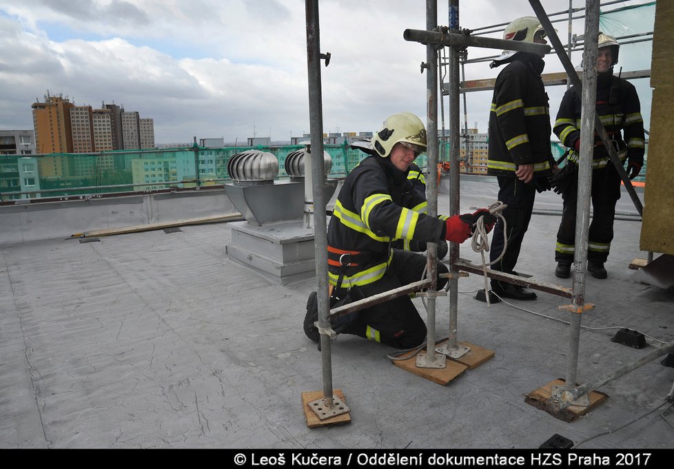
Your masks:
[[[322,98],[320,91],[320,59],[329,60],[329,54],[320,54],[320,39],[318,28],[318,0],[305,0],[307,12],[307,67],[309,70],[309,115],[311,121],[312,134],[312,188],[315,213],[326,213],[326,201],[323,195],[323,185],[320,184],[323,178],[323,111]],[[548,37],[553,43],[564,68],[569,74],[577,90],[580,90],[580,79],[576,74],[569,56],[566,55],[564,46],[561,44],[555,30],[552,28],[540,0],[529,0],[539,21],[541,21]],[[599,0],[586,0],[586,28],[585,37],[597,37],[599,23]],[[449,215],[457,215],[459,209],[459,161],[460,161],[460,104],[459,104],[459,83],[460,83],[460,51],[467,47],[475,46],[481,48],[500,48],[508,50],[518,50],[524,52],[547,53],[551,50],[549,45],[537,43],[515,43],[513,41],[504,41],[502,39],[491,39],[476,37],[467,31],[459,30],[459,0],[449,0],[449,27],[439,27],[437,21],[438,1],[426,1],[427,30],[405,30],[403,37],[406,41],[416,41],[426,45],[427,63],[422,64],[427,69],[427,156],[429,168],[434,169],[438,164],[438,76],[440,67],[438,66],[438,56],[440,48],[449,47],[449,143],[450,143],[450,198]],[[569,15],[571,13],[569,12]],[[597,61],[597,43],[595,41],[584,44],[585,65],[584,65],[584,83],[589,84],[582,88],[582,129],[580,144],[580,170],[578,181],[578,219],[576,223],[576,246],[574,260],[574,281],[573,289],[562,288],[547,282],[539,282],[535,279],[523,279],[515,275],[500,273],[487,269],[487,275],[490,278],[503,280],[505,282],[528,286],[547,293],[560,295],[564,298],[572,298],[573,304],[560,306],[560,309],[566,309],[571,314],[571,327],[569,330],[569,361],[567,363],[565,386],[557,393],[554,393],[547,403],[551,409],[559,410],[565,408],[602,384],[605,384],[615,377],[629,373],[633,369],[650,362],[652,359],[665,355],[674,349],[674,343],[667,346],[661,346],[655,351],[642,357],[641,359],[623,366],[596,379],[594,382],[583,386],[575,386],[575,377],[578,369],[578,349],[580,342],[580,320],[581,314],[593,305],[585,303],[585,267],[587,257],[587,244],[589,234],[589,205],[591,190],[591,159],[593,152],[593,134],[595,129],[600,134],[602,142],[609,150],[611,160],[616,165],[622,180],[626,187],[631,189],[630,196],[635,202],[639,213],[642,213],[642,205],[635,194],[631,182],[626,172],[620,165],[620,158],[615,154],[613,145],[610,144],[606,130],[595,112],[595,94],[596,94],[596,70]],[[442,96],[440,94],[440,96]],[[444,115],[443,115],[444,121]],[[445,136],[443,135],[443,138]],[[438,209],[438,174],[437,171],[429,171],[429,185],[427,185],[428,213],[430,216],[437,215]],[[628,189],[628,190],[629,190]],[[340,404],[340,401],[333,394],[332,388],[332,370],[331,370],[331,336],[334,331],[331,330],[330,320],[341,315],[358,311],[366,306],[378,304],[406,295],[419,289],[427,289],[424,295],[427,296],[427,314],[428,314],[428,335],[427,335],[427,356],[425,364],[421,366],[427,368],[438,367],[438,360],[445,358],[442,353],[440,359],[435,353],[435,317],[436,317],[436,259],[437,244],[429,243],[427,250],[427,271],[425,280],[414,282],[398,289],[380,293],[370,298],[365,298],[357,302],[340,306],[330,310],[328,294],[328,275],[327,275],[327,223],[325,217],[318,217],[315,220],[315,247],[316,247],[316,282],[318,289],[318,330],[320,332],[320,350],[323,364],[323,404],[331,410],[330,415],[336,415],[332,412],[334,407]],[[579,246],[580,243],[580,246]],[[458,335],[458,279],[461,271],[474,271],[475,273],[484,273],[479,269],[460,262],[459,245],[456,242],[449,244],[449,342],[445,352],[449,354],[456,351]],[[454,356],[454,355],[451,355]],[[418,365],[419,366],[419,365]],[[346,410],[348,412],[349,410]],[[320,416],[319,416],[320,418]]]

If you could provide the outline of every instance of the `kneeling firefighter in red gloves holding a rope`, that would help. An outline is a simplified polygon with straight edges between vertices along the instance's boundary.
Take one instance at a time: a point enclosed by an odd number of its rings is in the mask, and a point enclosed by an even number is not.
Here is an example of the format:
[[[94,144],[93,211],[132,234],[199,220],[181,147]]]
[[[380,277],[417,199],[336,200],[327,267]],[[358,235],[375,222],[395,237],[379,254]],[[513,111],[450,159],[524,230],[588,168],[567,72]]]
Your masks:
[[[496,217],[487,209],[462,216],[431,217],[426,213],[425,191],[410,167],[426,151],[426,129],[410,112],[389,116],[371,139],[374,152],[344,180],[330,219],[328,244],[329,283],[336,298],[367,298],[422,280],[426,256],[394,249],[400,240],[464,242],[480,216],[493,226]],[[418,167],[413,166],[413,171]],[[490,225],[491,224],[491,225]],[[447,279],[438,262],[438,289]],[[332,298],[331,298],[331,306]],[[350,317],[349,317],[350,316]],[[316,292],[307,302],[304,330],[318,342]],[[332,322],[338,333],[359,335],[396,348],[418,346],[426,339],[426,324],[408,295],[370,306]]]

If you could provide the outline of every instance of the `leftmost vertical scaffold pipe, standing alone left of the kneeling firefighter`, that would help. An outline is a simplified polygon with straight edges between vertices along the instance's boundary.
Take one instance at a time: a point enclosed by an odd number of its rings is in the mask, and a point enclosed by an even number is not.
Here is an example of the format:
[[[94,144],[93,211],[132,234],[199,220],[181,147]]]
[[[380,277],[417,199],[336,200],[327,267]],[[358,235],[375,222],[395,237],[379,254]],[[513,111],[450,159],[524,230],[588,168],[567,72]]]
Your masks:
[[[320,36],[318,0],[306,0],[307,69],[309,71],[309,125],[312,133],[312,179],[314,196],[314,245],[316,249],[316,291],[318,292],[318,326],[330,326],[327,286],[327,223],[323,190],[323,101],[320,87]],[[306,173],[305,173],[306,174]],[[320,334],[320,357],[323,365],[323,399],[331,407],[332,359],[329,335]]]

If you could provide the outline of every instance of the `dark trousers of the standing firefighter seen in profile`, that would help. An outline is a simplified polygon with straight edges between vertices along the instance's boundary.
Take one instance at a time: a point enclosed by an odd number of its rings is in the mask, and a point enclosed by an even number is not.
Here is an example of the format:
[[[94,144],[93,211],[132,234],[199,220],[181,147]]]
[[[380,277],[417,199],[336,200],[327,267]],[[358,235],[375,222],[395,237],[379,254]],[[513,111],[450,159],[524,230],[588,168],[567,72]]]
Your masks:
[[[529,184],[522,183],[516,177],[497,176],[497,179],[499,187],[498,200],[508,206],[501,212],[507,224],[508,244],[503,258],[496,264],[493,264],[491,269],[505,273],[515,273],[515,264],[517,264],[517,260],[520,257],[524,233],[527,233],[527,229],[529,229],[533,202],[536,198],[536,189]],[[503,247],[503,222],[499,218],[491,238],[491,248],[489,249],[489,259],[491,262],[501,255]],[[491,281],[492,289],[498,291],[503,286],[497,280]]]

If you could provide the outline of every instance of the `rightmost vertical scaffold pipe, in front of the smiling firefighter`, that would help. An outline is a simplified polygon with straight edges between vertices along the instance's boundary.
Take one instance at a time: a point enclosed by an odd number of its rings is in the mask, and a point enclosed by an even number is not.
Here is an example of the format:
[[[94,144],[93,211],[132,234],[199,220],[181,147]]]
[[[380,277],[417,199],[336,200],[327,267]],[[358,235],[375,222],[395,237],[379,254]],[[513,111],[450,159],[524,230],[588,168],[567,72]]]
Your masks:
[[[597,54],[599,35],[599,0],[587,0],[585,10],[585,45],[583,48],[582,111],[580,114],[580,161],[578,167],[578,205],[575,222],[575,254],[573,264],[573,306],[569,329],[569,358],[566,365],[565,389],[575,386],[578,371],[580,322],[585,304],[585,267],[587,263],[590,226],[590,195],[592,190],[592,158],[594,149],[595,114],[597,103]]]

